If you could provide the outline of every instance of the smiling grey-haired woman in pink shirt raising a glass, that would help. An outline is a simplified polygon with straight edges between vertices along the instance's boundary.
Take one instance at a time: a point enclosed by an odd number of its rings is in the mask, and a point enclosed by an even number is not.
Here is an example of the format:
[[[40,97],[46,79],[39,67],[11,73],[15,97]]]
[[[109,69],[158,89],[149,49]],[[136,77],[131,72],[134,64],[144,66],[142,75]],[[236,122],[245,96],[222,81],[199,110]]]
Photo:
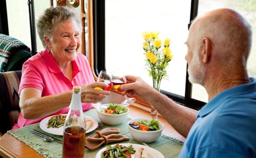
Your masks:
[[[73,86],[81,86],[84,111],[109,94],[95,89],[108,85],[95,83],[86,56],[78,53],[81,24],[74,11],[68,7],[48,8],[39,18],[37,28],[45,50],[23,64],[21,114],[14,130],[49,115],[67,113]]]

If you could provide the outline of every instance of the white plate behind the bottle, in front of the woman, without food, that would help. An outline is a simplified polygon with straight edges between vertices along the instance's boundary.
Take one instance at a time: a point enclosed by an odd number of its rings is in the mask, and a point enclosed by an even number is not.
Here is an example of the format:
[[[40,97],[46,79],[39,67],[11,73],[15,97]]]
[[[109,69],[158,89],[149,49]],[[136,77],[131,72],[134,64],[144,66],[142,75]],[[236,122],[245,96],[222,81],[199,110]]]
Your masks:
[[[48,126],[48,121],[52,116],[43,118],[43,120],[40,122],[39,126],[40,128],[47,133],[51,133],[51,134],[55,134],[55,135],[63,135],[63,126],[59,127],[59,128],[47,128]],[[94,120],[93,117],[90,116],[86,116],[85,115],[85,120],[92,120],[93,125],[86,131],[86,133],[92,132],[93,130],[95,130],[98,127],[98,122],[96,120]]]

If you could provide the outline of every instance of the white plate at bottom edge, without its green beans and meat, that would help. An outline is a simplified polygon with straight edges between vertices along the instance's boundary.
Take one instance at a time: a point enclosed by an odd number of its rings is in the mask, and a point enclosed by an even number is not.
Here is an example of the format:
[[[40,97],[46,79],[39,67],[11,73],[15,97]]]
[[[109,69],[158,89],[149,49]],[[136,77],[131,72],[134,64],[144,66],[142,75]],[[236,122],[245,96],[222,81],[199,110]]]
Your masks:
[[[114,144],[115,145],[115,144]],[[130,144],[130,143],[124,143],[124,144],[120,144],[123,146],[129,146],[132,145],[132,147],[134,148],[134,150],[138,150],[141,147],[144,148],[144,150],[146,150],[148,153],[150,153],[153,157],[156,158],[164,158],[163,154],[160,153],[159,151],[157,151],[156,149],[153,149],[152,147],[149,146],[145,146],[145,145],[141,145],[141,144]],[[113,145],[111,145],[113,146]],[[96,154],[96,158],[101,158],[102,152],[106,150],[106,147],[104,147],[103,149],[101,149],[100,151],[98,151],[98,153]],[[134,157],[135,154],[132,154],[132,158]]]

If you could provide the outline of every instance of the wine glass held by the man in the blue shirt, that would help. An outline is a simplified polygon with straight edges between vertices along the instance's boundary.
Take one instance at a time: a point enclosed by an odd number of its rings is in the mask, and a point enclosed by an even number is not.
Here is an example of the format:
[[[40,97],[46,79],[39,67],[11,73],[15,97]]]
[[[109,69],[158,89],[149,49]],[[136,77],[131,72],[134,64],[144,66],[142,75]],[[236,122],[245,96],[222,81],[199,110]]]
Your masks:
[[[120,94],[124,95],[124,97],[125,97],[125,100],[121,103],[122,106],[128,106],[136,101],[135,98],[128,97],[125,94],[125,91],[120,90],[120,86],[122,84],[127,83],[126,77],[124,75],[122,75],[122,77],[120,77],[118,74],[112,73],[112,81],[111,82],[112,82],[111,90],[116,93],[120,93]]]

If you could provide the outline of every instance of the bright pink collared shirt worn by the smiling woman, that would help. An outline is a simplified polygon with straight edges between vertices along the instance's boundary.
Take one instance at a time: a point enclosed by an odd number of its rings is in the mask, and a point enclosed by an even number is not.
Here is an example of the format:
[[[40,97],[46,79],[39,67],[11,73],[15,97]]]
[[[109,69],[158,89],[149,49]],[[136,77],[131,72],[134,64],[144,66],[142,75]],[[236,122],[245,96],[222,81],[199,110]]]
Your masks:
[[[72,66],[74,78],[70,81],[60,70],[49,50],[37,53],[23,64],[19,94],[23,88],[33,87],[38,88],[42,92],[42,96],[48,96],[72,90],[76,85],[82,86],[95,82],[85,55],[78,54],[76,60],[72,61]],[[83,110],[87,111],[92,107],[92,103],[83,103],[82,106]],[[69,107],[67,106],[51,115],[68,113],[68,111]],[[45,117],[30,120],[25,119],[20,113],[17,124],[12,127],[12,130],[38,123]]]

